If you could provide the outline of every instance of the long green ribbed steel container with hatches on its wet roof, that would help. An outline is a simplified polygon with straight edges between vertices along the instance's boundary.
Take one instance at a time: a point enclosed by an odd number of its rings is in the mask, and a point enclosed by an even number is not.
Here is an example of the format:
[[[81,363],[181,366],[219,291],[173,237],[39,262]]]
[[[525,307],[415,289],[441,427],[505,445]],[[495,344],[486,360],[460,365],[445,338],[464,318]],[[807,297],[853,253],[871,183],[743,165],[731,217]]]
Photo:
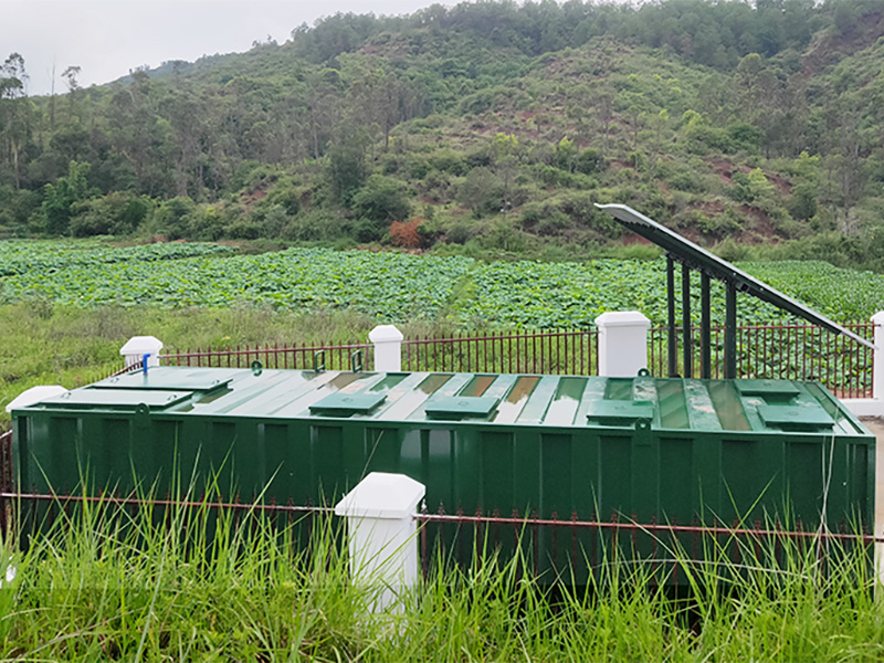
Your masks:
[[[817,527],[824,507],[830,526],[873,523],[874,436],[815,382],[187,368],[139,379],[13,411],[21,488],[76,491],[88,472],[92,490],[126,493],[135,475],[165,492],[176,473],[220,469],[243,499],[316,504],[382,471],[424,483],[428,507],[448,513],[777,514]]]

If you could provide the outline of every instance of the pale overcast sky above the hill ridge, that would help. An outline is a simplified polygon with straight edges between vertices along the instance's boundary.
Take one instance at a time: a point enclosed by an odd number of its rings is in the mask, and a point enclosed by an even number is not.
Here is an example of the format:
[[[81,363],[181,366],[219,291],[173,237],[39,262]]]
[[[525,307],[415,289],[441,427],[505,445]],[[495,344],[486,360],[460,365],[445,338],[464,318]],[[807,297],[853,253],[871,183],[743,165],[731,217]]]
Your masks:
[[[436,0],[451,6],[454,1]],[[80,84],[107,83],[147,64],[192,62],[248,51],[255,40],[283,43],[301,23],[337,12],[411,13],[433,0],[0,0],[0,61],[24,57],[28,93],[48,94],[55,66],[82,69]]]

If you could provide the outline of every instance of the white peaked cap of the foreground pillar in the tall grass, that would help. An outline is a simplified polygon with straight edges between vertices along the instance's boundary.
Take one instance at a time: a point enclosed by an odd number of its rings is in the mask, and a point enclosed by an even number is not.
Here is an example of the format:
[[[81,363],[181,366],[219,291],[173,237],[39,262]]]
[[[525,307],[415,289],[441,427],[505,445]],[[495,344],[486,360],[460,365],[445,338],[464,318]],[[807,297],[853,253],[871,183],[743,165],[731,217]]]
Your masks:
[[[335,505],[336,516],[401,519],[414,513],[427,487],[404,474],[372,472]]]

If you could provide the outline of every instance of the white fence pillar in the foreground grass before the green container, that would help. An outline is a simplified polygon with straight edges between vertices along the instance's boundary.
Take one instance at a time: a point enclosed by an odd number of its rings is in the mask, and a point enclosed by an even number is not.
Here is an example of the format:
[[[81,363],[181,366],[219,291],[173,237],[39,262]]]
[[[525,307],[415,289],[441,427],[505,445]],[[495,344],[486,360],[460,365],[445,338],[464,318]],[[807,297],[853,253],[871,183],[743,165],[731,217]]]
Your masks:
[[[427,488],[403,474],[372,472],[335,505],[347,518],[355,585],[377,591],[372,612],[418,582],[418,504]]]

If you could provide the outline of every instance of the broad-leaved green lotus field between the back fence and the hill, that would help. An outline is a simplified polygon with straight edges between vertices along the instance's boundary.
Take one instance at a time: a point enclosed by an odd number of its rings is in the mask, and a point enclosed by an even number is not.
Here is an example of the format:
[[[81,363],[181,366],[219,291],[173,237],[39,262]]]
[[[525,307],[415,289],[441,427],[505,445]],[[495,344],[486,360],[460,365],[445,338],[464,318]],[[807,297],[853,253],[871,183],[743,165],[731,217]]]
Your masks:
[[[871,272],[822,262],[740,266],[835,319],[865,319],[884,306],[884,276]],[[664,260],[484,263],[329,249],[243,255],[202,243],[0,242],[0,304],[350,308],[391,323],[450,318],[464,327],[585,328],[600,313],[622,309],[664,324],[665,283]],[[698,276],[692,294],[698,316]],[[739,298],[738,315],[741,324],[782,319],[750,297]],[[724,290],[717,284],[713,317],[724,319]]]

